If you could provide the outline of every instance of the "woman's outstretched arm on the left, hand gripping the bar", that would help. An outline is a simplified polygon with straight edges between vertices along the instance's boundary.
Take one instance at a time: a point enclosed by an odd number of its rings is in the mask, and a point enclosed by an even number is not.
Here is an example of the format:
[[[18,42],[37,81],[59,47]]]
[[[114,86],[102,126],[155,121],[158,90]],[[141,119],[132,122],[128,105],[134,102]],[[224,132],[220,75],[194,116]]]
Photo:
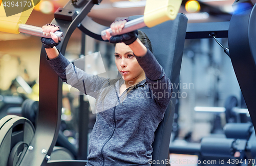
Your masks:
[[[52,29],[56,31],[56,27],[52,27]],[[42,30],[46,35],[48,33],[48,35],[50,34],[51,37],[53,37],[52,39],[54,39],[55,35],[53,33],[55,31],[52,32],[49,27],[47,27],[48,31],[43,28]],[[67,82],[67,84],[77,88],[84,94],[97,98],[98,92],[108,79],[80,70],[74,63],[69,62],[55,46],[53,48],[46,48],[46,53],[50,66],[60,76],[62,81]]]

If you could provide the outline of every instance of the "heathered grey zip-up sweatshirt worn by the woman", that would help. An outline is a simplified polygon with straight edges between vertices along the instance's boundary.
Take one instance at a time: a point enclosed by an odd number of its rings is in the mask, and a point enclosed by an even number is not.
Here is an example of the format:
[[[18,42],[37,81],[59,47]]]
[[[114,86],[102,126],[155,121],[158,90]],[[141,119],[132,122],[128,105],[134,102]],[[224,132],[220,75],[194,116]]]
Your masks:
[[[48,59],[62,81],[103,100],[95,105],[96,122],[89,139],[88,166],[151,165],[154,132],[163,119],[173,88],[150,50],[136,59],[146,79],[128,94],[128,89],[119,94],[122,78],[111,86],[110,79],[78,69],[61,53],[55,59]],[[109,87],[108,93],[102,98],[105,87]]]

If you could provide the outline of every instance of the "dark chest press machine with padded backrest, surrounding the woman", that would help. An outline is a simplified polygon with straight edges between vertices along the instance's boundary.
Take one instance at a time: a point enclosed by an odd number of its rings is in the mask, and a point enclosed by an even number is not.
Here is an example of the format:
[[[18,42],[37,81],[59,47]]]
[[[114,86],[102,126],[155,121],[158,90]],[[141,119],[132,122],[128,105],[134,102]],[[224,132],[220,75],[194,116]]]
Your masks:
[[[65,54],[68,40],[76,27],[84,34],[102,40],[101,32],[108,27],[94,22],[87,16],[91,8],[100,2],[100,0],[72,0],[71,3],[69,2],[65,7],[55,12],[55,18],[51,23],[59,25],[64,34],[63,36],[60,35],[62,41],[57,46],[63,54]],[[255,126],[256,113],[253,112],[253,108],[256,107],[256,103],[253,96],[256,94],[254,60],[256,48],[253,47],[255,44],[253,37],[256,32],[252,31],[256,27],[255,9],[250,1],[236,1],[234,5],[245,3],[250,4],[250,6],[235,12],[230,22],[187,25],[185,15],[178,14],[175,20],[163,20],[162,22],[166,22],[151,29],[143,27],[144,25],[136,26],[136,23],[132,27],[141,28],[141,31],[145,32],[151,39],[154,54],[173,84],[179,82],[185,39],[212,38],[211,34],[213,33],[218,38],[228,37],[233,68]],[[173,9],[170,11],[173,12]],[[131,20],[136,18],[138,16],[130,17]],[[143,24],[143,22],[140,21],[138,24]],[[154,33],[160,31],[161,34]],[[44,48],[41,49],[40,56],[39,85],[40,100],[36,129],[29,120],[22,117],[6,116],[0,120],[0,165],[85,165],[85,160],[49,160],[60,127],[62,82],[48,65]],[[177,93],[177,89],[174,89],[174,93]],[[172,98],[171,103],[175,102],[176,98]],[[155,141],[152,145],[153,160],[168,158],[174,108],[175,104],[168,106],[164,119],[155,132]],[[86,145],[84,147],[87,149]]]

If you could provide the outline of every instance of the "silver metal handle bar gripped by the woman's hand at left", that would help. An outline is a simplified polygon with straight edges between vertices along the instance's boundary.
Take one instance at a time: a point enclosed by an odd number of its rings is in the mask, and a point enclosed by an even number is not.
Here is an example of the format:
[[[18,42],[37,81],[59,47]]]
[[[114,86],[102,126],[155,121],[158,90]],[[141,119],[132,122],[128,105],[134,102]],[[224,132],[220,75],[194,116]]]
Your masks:
[[[30,35],[34,35],[34,36],[51,38],[51,36],[43,35],[42,34],[42,28],[37,27],[37,26],[19,24],[18,31],[21,32],[21,33],[30,34]],[[63,33],[62,32],[56,31],[54,34],[58,37],[59,41],[61,41],[63,39]]]

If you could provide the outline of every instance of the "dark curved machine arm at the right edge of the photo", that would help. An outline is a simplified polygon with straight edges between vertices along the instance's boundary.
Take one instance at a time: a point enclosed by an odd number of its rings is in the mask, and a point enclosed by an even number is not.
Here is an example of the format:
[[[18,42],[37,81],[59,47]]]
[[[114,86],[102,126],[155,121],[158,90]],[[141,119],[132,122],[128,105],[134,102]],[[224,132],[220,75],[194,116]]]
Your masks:
[[[228,30],[228,45],[230,59],[236,73],[239,86],[245,99],[253,126],[256,125],[255,94],[256,69],[254,47],[256,35],[255,27],[255,5],[251,1],[234,2],[233,6],[239,6],[231,17]],[[246,73],[246,74],[245,74]],[[255,130],[255,127],[254,127]]]

